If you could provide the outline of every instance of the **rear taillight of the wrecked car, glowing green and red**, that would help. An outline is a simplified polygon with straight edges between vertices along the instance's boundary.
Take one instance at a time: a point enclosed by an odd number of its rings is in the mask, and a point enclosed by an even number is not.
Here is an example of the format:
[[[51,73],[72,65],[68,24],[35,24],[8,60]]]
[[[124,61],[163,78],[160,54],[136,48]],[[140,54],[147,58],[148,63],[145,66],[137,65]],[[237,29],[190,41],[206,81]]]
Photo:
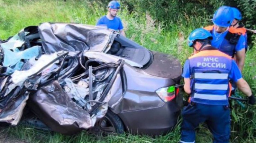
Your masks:
[[[156,90],[156,94],[165,102],[172,101],[175,98],[175,86],[163,87]],[[177,91],[179,92],[179,91]]]

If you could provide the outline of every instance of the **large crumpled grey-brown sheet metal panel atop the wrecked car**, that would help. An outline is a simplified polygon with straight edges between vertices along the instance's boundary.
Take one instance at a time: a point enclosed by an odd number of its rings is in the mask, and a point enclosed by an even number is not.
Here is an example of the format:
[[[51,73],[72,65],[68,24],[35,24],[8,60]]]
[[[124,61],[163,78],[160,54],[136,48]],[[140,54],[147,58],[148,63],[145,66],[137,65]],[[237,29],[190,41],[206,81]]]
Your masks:
[[[116,37],[116,31],[97,29],[91,25],[75,23],[42,23],[39,35],[44,52],[99,51],[107,53]]]

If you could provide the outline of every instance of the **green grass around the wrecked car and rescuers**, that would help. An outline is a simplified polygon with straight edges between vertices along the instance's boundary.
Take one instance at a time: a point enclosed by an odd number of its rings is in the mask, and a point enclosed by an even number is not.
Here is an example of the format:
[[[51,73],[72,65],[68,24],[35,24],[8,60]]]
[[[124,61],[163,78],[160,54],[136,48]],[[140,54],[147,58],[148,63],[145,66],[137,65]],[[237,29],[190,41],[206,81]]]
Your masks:
[[[106,14],[105,6],[99,1],[89,0],[0,0],[0,39],[7,39],[29,25],[42,22],[78,22],[94,25],[99,17]],[[188,34],[195,28],[209,25],[208,16],[194,17],[181,14],[179,20],[168,25],[155,23],[148,13],[128,12],[124,7],[118,13],[121,17],[127,37],[150,50],[174,55],[183,64],[192,49],[186,46]],[[244,78],[252,90],[256,91],[256,40],[247,52]],[[231,138],[234,143],[256,142],[256,108],[250,106],[241,108],[235,101],[231,102]],[[181,120],[180,120],[181,122]],[[177,143],[180,138],[180,122],[169,134],[149,136],[121,134],[109,136],[94,136],[83,131],[74,136],[40,131],[27,126],[13,126],[4,129],[5,133],[28,142],[44,143]],[[205,125],[199,126],[196,142],[212,142],[211,133]]]

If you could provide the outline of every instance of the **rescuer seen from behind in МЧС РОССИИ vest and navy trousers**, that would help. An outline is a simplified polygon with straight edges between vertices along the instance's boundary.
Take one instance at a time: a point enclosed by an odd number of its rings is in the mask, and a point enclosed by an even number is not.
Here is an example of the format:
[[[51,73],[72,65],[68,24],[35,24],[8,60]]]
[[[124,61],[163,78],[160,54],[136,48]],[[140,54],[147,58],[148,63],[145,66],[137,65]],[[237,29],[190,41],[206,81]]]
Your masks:
[[[255,103],[247,82],[242,78],[232,58],[212,47],[212,35],[205,29],[196,29],[188,37],[188,45],[198,53],[189,57],[183,68],[184,90],[190,94],[189,105],[182,111],[180,143],[195,142],[195,128],[206,122],[214,143],[228,143],[230,135],[229,80]]]

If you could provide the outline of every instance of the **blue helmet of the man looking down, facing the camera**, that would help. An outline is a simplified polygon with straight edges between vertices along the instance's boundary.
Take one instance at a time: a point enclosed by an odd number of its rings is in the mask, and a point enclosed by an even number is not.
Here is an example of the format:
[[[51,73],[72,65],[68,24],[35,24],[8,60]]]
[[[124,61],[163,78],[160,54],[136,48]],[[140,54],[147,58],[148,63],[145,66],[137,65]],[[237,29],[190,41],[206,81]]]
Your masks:
[[[228,27],[234,20],[234,14],[231,7],[222,6],[215,11],[212,22],[221,27]]]

